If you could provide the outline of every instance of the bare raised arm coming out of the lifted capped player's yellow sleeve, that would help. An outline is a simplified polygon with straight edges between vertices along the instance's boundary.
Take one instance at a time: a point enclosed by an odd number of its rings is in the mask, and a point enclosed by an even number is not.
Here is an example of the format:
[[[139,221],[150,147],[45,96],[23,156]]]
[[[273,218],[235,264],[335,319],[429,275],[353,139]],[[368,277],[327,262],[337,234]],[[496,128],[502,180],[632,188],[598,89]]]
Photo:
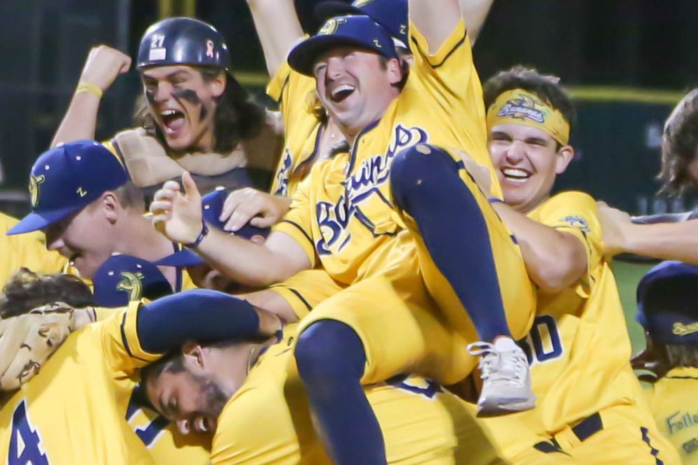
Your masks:
[[[461,20],[456,0],[409,0],[409,20],[436,53]]]

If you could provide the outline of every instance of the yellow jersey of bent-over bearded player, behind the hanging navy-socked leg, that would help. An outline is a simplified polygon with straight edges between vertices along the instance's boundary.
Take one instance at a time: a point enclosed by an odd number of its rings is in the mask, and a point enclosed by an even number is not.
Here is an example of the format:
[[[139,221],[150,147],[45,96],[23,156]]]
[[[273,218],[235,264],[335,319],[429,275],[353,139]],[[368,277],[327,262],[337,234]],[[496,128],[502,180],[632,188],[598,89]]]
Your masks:
[[[331,464],[315,436],[293,358],[293,325],[270,346],[218,418],[214,465]],[[367,387],[390,464],[499,463],[464,403],[421,377]]]

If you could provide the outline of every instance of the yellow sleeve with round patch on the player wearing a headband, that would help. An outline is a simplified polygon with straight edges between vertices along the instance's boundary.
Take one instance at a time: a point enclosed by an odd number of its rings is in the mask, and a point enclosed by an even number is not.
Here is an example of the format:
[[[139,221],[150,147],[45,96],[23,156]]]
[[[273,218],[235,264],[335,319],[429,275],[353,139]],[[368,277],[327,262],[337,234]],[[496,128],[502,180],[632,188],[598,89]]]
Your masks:
[[[529,217],[579,238],[586,250],[587,273],[576,291],[580,297],[589,297],[595,281],[598,280],[598,265],[603,260],[601,225],[596,201],[584,192],[562,192],[534,210]]]

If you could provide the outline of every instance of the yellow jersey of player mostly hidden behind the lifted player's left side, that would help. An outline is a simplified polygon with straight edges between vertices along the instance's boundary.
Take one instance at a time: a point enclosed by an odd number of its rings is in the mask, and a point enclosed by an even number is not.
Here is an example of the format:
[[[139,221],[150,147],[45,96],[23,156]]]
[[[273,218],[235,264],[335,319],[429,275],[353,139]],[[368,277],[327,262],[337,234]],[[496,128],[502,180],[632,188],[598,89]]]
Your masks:
[[[291,71],[288,63],[284,63],[270,81],[267,94],[279,104],[286,135],[271,193],[290,197],[320,156],[318,148],[325,126],[310,108],[315,79]]]

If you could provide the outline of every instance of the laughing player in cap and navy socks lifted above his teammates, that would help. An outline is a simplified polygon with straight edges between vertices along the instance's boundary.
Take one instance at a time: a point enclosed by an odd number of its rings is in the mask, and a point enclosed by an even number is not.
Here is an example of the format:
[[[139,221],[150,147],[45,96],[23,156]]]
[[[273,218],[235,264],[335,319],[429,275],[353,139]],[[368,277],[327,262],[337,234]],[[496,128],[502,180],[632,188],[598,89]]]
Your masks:
[[[334,18],[291,50],[291,67],[315,76],[352,149],[311,170],[263,246],[202,234],[199,197],[186,173],[185,194],[167,183],[151,205],[165,234],[195,241],[200,255],[240,281],[275,283],[322,263],[348,285],[303,318],[295,349],[322,437],[340,464],[386,460],[360,383],[404,370],[456,382],[475,364],[468,342],[485,341],[483,412],[526,409],[534,400],[525,355],[512,338],[529,330],[534,312],[518,246],[461,160],[423,145],[463,147],[491,167],[459,6],[414,0],[409,15],[409,78],[390,35],[361,16]],[[496,183],[494,170],[492,177]],[[396,208],[416,222],[406,228]],[[384,306],[383,292],[403,304]],[[364,428],[346,428],[357,418]]]

